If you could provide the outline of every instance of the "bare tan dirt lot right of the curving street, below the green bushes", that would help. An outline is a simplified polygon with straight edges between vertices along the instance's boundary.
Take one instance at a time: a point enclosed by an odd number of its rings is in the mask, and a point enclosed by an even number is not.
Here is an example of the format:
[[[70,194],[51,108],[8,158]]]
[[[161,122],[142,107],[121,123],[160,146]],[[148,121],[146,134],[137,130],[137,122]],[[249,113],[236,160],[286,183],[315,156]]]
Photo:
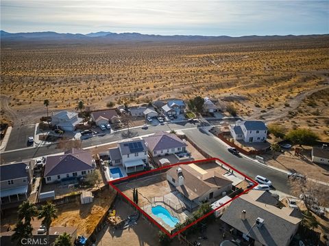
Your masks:
[[[324,182],[329,182],[329,166],[310,161],[310,150],[304,150],[302,156],[295,156],[293,151],[284,153],[263,154],[265,163],[289,172],[298,172]],[[273,159],[274,156],[274,159]]]

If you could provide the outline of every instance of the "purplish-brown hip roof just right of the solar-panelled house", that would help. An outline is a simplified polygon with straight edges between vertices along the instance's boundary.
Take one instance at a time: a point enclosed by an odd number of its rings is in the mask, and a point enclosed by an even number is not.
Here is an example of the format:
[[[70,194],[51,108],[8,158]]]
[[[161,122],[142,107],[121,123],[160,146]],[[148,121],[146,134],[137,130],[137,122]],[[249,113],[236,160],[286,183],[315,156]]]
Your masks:
[[[187,146],[184,141],[173,133],[160,132],[149,137],[143,137],[143,139],[145,139],[146,146],[151,152]]]

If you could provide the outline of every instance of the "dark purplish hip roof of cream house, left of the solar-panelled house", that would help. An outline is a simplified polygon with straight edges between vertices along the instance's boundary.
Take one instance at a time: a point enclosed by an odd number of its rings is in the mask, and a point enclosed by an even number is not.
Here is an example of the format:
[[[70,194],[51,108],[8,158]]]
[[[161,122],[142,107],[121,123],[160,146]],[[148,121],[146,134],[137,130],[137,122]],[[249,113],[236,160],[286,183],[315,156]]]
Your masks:
[[[67,152],[57,156],[48,156],[45,164],[44,176],[54,176],[94,169],[93,156],[89,151]]]

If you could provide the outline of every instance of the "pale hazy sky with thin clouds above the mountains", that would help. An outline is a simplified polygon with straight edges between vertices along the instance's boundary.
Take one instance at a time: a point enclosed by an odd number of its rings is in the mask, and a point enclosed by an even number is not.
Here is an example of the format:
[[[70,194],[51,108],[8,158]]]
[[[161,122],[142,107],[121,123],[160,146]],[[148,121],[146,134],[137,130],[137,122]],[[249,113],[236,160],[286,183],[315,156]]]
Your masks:
[[[1,0],[1,29],[206,36],[329,33],[329,1]]]

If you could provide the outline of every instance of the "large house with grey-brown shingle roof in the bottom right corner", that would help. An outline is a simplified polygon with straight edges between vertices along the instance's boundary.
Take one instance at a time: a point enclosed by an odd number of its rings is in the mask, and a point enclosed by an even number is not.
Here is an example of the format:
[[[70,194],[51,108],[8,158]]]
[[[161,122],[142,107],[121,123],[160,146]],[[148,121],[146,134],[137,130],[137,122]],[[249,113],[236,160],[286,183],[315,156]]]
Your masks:
[[[231,202],[221,220],[251,245],[289,245],[301,221],[299,213],[272,201],[267,191],[249,191]]]

